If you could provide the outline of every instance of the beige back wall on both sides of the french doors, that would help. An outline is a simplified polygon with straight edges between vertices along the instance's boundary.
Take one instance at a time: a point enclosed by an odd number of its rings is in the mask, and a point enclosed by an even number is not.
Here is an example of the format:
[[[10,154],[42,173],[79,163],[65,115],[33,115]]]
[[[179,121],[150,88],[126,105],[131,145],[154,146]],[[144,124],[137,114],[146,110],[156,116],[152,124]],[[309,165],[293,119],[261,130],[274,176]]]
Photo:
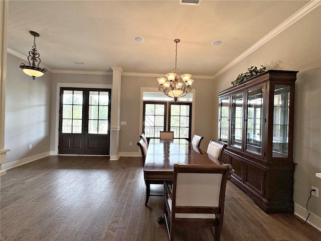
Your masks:
[[[152,87],[157,88],[157,77],[121,77],[121,99],[120,99],[120,121],[127,122],[127,125],[121,126],[120,131],[120,152],[130,153],[138,152],[136,145],[142,123],[140,119],[140,88]],[[210,79],[194,79],[192,88],[195,90],[195,133],[204,136],[201,148],[207,148],[207,144],[211,139],[217,139],[217,135],[213,133],[213,108],[216,105],[216,100],[212,92],[213,80]],[[158,89],[156,89],[158,91]],[[132,146],[129,146],[132,142]]]

